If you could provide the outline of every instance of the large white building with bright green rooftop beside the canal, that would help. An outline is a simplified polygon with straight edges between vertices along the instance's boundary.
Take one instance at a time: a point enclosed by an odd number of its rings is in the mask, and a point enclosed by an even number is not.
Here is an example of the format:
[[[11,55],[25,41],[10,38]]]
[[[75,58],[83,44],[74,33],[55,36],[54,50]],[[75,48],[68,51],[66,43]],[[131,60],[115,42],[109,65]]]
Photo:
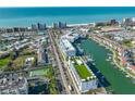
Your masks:
[[[81,92],[87,92],[90,89],[97,88],[98,86],[97,77],[81,58],[77,58],[77,59],[74,58],[69,60],[69,66],[71,70],[73,79],[75,80],[78,87],[78,90]],[[86,74],[83,75],[82,74],[83,71],[85,71]]]

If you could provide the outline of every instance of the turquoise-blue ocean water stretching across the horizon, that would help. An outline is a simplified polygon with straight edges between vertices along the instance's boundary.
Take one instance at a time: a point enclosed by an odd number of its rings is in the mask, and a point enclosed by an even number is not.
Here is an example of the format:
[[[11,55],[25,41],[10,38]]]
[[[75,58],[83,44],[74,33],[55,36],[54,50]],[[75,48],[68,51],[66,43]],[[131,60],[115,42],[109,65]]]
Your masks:
[[[77,8],[0,8],[0,27],[30,26],[32,23],[53,22],[84,24],[123,17],[134,17],[134,7],[77,7]]]

